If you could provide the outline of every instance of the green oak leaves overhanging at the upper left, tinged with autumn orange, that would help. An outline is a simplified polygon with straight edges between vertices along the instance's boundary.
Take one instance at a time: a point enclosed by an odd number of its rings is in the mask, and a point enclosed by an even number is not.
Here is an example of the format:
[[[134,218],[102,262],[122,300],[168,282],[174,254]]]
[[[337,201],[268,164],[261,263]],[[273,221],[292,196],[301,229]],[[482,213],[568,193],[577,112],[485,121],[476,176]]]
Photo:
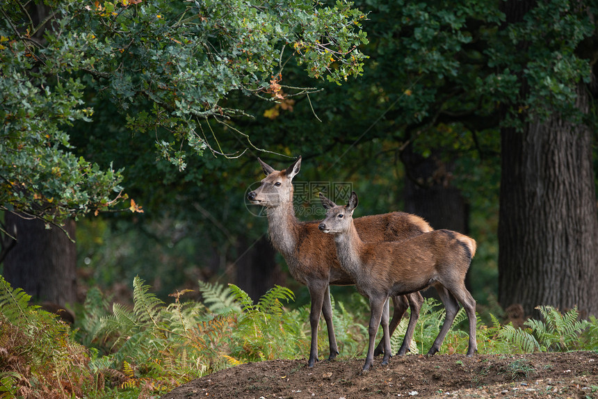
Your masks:
[[[290,58],[336,83],[366,58],[366,17],[344,0],[10,0],[0,13],[0,210],[47,222],[125,198],[122,170],[71,144],[69,130],[97,122],[95,104],[112,101],[112,115],[183,170],[186,154],[222,154],[202,121],[248,115],[223,104],[231,92],[269,99]]]

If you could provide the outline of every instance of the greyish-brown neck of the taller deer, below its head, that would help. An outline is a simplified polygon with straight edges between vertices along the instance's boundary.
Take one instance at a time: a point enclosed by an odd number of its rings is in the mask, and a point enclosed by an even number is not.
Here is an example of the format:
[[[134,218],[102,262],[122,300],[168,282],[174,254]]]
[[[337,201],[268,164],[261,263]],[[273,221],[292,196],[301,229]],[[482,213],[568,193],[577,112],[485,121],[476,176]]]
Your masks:
[[[272,245],[286,258],[295,253],[297,227],[293,202],[282,202],[279,206],[268,208],[268,232]]]

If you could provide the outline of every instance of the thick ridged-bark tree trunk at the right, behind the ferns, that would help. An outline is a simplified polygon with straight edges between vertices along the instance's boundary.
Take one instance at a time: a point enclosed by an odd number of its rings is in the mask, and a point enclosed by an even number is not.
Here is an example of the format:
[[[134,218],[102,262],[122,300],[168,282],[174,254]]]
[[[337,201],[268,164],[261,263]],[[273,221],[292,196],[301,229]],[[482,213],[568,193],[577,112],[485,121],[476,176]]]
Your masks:
[[[588,95],[576,104],[588,111]],[[598,314],[592,133],[553,115],[501,131],[499,302]]]

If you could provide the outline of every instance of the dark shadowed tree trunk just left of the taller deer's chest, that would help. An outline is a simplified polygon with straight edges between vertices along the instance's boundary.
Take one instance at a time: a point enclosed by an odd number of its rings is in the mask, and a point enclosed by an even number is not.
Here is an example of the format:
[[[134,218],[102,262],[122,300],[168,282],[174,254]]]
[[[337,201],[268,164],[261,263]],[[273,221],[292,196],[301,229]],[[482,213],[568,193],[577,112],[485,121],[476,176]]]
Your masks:
[[[280,266],[276,263],[276,251],[268,238],[247,242],[239,238],[236,260],[236,284],[257,302],[275,284],[284,284]]]

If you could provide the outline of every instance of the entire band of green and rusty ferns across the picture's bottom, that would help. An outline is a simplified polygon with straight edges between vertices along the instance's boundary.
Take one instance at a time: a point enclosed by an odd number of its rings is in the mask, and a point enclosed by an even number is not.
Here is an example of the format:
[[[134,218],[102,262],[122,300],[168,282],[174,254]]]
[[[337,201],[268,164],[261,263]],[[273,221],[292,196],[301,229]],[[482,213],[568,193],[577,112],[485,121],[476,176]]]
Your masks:
[[[0,277],[0,346],[6,348],[0,351],[0,393],[48,398],[149,397],[227,366],[307,354],[309,307],[284,309],[283,302],[294,298],[288,288],[275,286],[254,303],[237,286],[202,283],[200,293],[209,298],[207,302],[181,302],[190,291],[186,290],[172,294],[174,302],[165,304],[149,292],[142,279],[134,279],[133,286],[133,306],[113,304],[111,312],[102,293],[89,292],[77,334],[87,342],[86,349],[73,340],[68,325],[29,306],[29,295],[13,290]],[[366,302],[361,295],[353,295],[353,311],[332,302],[341,355],[361,357],[367,345]],[[564,315],[551,307],[540,307],[540,312],[545,321],[528,320],[525,331],[503,326],[494,316],[491,327],[478,321],[480,352],[596,349],[595,318],[580,322],[575,309]],[[466,321],[463,313],[455,325]],[[437,302],[424,302],[412,352],[428,349],[443,318],[444,310]],[[407,318],[391,339],[393,352],[401,345],[406,325]],[[579,344],[574,345],[576,339]],[[527,345],[533,340],[538,344]],[[328,350],[327,345],[321,350]],[[467,334],[455,327],[441,352],[466,348]],[[528,361],[520,359],[503,373],[516,379],[532,371]]]

